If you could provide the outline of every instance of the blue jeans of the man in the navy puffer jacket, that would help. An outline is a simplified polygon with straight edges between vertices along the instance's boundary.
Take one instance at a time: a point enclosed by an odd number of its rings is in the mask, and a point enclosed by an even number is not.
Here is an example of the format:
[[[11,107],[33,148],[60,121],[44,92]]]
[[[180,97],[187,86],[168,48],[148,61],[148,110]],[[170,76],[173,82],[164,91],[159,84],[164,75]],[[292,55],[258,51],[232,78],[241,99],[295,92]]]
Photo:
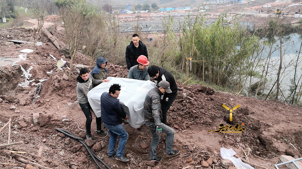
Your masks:
[[[126,143],[129,136],[123,125],[122,124],[107,125],[105,123],[103,124],[106,126],[110,134],[110,139],[108,144],[108,155],[114,154],[114,148],[115,148],[117,136],[120,137],[120,141],[118,142],[117,153],[116,153],[117,157],[124,155]]]

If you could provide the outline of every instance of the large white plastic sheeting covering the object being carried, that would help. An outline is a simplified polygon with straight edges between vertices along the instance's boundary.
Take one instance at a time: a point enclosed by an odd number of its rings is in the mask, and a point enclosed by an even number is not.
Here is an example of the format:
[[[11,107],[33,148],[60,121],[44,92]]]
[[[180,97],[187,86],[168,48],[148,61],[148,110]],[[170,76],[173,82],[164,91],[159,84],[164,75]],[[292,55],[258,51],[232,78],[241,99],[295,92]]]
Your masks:
[[[121,86],[120,106],[128,116],[128,122],[133,128],[140,128],[145,124],[144,120],[144,101],[146,94],[156,85],[152,81],[143,81],[129,78],[108,77],[109,82],[104,82],[88,92],[88,102],[95,115],[101,117],[101,95],[109,92],[112,84],[117,83]]]

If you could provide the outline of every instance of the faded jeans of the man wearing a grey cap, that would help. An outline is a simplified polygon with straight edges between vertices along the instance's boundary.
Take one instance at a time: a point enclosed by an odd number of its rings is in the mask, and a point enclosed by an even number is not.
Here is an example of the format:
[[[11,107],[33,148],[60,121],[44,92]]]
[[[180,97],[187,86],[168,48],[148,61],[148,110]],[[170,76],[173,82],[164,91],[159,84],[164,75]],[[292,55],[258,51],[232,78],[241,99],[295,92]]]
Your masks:
[[[146,125],[150,128],[151,134],[152,134],[152,142],[151,142],[151,154],[150,154],[150,160],[156,158],[156,149],[157,149],[157,144],[160,140],[160,136],[158,136],[156,132],[156,125],[154,122],[146,121]],[[162,123],[162,133],[167,134],[167,139],[166,139],[166,154],[169,154],[172,152],[172,146],[173,146],[173,141],[174,141],[174,136],[175,136],[175,131],[170,128],[169,126],[165,125]]]

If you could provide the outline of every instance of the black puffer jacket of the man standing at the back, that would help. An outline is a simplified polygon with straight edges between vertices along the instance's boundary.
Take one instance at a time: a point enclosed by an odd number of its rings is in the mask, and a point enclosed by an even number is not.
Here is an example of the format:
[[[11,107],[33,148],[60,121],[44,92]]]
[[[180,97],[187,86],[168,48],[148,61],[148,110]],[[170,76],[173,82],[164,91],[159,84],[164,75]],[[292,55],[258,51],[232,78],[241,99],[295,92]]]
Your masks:
[[[147,51],[146,45],[143,44],[142,41],[139,41],[138,43],[139,43],[138,48],[135,47],[135,49],[137,49],[140,52],[136,52],[137,55],[134,55],[134,51],[133,51],[134,44],[133,44],[132,41],[130,42],[130,45],[128,45],[127,48],[126,48],[126,63],[127,63],[127,69],[128,70],[132,66],[138,65],[137,58],[140,55],[144,55],[148,58],[148,51]]]

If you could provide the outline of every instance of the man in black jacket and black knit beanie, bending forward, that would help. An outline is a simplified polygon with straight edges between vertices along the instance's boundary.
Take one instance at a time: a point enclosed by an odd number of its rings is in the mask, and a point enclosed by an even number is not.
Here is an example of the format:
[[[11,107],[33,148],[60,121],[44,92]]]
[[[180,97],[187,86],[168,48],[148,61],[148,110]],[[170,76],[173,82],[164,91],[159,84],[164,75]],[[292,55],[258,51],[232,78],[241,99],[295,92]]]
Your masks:
[[[167,124],[167,112],[169,108],[171,107],[172,103],[176,99],[178,87],[175,82],[174,77],[171,75],[170,72],[168,72],[165,68],[160,66],[150,66],[148,68],[148,73],[150,77],[154,78],[154,81],[156,85],[162,81],[168,81],[172,93],[165,93],[162,97],[161,104],[162,104],[162,123]]]

